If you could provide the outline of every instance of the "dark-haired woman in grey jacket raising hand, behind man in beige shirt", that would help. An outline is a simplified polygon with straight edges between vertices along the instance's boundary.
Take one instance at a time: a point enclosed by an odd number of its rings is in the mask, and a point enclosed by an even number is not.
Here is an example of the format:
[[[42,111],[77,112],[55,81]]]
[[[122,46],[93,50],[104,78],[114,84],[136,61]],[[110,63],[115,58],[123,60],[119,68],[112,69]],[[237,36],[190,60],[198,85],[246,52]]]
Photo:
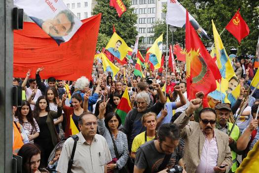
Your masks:
[[[111,112],[104,118],[108,102],[109,99],[100,104],[97,121],[98,130],[105,137],[111,152],[112,161],[107,164],[107,172],[121,173],[123,171],[125,173],[123,167],[126,165],[129,157],[127,136],[118,130],[118,127],[121,125],[121,119],[117,114]]]

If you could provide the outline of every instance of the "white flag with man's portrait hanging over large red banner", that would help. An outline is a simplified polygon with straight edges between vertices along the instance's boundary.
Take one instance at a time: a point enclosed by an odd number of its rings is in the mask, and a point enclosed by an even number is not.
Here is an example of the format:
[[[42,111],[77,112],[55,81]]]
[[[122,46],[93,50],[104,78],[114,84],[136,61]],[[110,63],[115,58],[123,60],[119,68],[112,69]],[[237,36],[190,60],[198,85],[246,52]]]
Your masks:
[[[82,25],[62,0],[14,0],[14,5],[58,44],[69,41]]]

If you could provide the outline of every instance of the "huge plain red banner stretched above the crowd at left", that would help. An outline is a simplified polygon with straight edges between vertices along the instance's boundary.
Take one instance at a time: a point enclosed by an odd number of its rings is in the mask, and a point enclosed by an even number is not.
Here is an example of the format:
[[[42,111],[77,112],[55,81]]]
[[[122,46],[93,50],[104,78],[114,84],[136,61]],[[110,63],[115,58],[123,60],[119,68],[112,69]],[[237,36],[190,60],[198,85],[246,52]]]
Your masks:
[[[35,78],[37,68],[44,67],[41,79],[91,79],[101,14],[82,22],[72,39],[60,46],[35,23],[24,22],[23,30],[14,30],[14,77],[24,78],[31,69]]]

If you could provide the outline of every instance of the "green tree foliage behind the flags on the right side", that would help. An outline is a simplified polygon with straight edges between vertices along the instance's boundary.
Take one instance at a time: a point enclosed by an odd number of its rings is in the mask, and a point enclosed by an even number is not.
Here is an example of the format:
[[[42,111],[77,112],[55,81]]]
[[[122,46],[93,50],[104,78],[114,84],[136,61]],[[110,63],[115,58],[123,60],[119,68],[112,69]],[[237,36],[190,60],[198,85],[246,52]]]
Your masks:
[[[200,26],[208,33],[211,40],[202,39],[205,45],[214,43],[212,23],[213,19],[219,33],[228,24],[235,12],[240,8],[240,14],[249,26],[250,34],[241,41],[238,41],[228,32],[221,35],[226,52],[230,54],[231,48],[237,48],[237,55],[255,54],[259,36],[259,1],[258,0],[179,0],[179,2],[197,20]],[[169,31],[169,30],[168,30]],[[160,21],[154,25],[154,38],[161,33],[166,34],[166,24]],[[171,32],[168,33],[168,40],[172,40]],[[170,38],[171,37],[171,38]],[[166,37],[164,36],[163,39]],[[164,40],[166,41],[166,40]],[[174,33],[174,43],[185,42],[185,30],[178,28]],[[164,42],[165,43],[165,42]],[[169,42],[170,43],[170,42]]]

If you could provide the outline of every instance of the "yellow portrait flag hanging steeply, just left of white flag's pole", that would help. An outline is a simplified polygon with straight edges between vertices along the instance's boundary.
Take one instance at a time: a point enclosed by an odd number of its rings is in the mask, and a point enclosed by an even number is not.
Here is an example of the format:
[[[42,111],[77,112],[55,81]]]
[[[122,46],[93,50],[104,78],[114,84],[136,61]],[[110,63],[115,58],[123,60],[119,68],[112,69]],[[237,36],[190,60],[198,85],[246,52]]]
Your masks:
[[[154,66],[154,69],[159,69],[161,66],[162,58],[162,49],[163,49],[163,34],[159,36],[153,45],[148,49],[147,54],[149,53],[149,62]]]

